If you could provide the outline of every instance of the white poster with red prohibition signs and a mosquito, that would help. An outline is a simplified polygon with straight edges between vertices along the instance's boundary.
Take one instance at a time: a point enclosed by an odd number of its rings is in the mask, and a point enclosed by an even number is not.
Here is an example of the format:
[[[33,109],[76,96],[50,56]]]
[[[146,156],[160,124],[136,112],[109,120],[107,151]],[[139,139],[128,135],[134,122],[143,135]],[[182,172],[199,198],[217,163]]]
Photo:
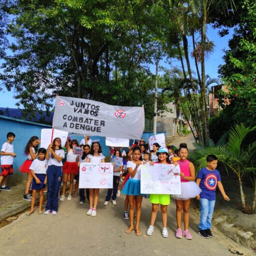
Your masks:
[[[79,188],[113,188],[113,164],[81,163]]]

